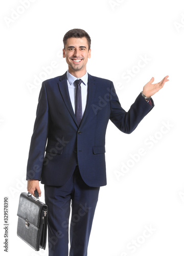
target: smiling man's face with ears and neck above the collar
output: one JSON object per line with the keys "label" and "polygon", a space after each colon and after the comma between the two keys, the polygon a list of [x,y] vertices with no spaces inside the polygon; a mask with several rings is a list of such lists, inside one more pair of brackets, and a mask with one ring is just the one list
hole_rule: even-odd
{"label": "smiling man's face with ears and neck above the collar", "polygon": [[85,37],[67,39],[65,49],[63,49],[63,58],[66,58],[68,70],[71,74],[77,71],[80,71],[80,74],[83,75],[86,73],[86,64],[88,58],[90,58],[90,52]]}

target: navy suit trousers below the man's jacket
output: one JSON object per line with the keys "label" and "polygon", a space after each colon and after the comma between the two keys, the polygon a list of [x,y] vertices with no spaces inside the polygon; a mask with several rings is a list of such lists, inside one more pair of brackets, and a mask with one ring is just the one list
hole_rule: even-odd
{"label": "navy suit trousers below the man's jacket", "polygon": [[99,189],[100,187],[86,185],[78,166],[64,185],[44,185],[45,203],[48,205],[49,256],[68,256],[69,226],[69,255],[87,256]]}

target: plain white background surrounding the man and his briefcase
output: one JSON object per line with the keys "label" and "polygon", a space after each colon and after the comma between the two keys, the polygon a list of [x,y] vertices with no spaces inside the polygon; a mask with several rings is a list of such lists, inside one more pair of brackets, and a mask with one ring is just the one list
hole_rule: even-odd
{"label": "plain white background surrounding the man and his briefcase", "polygon": [[[62,38],[73,28],[91,37],[88,73],[112,80],[125,110],[152,76],[155,82],[166,75],[170,79],[152,97],[154,109],[132,134],[109,122],[107,186],[100,189],[88,256],[183,256],[182,0],[1,1],[1,253],[8,196],[9,255],[48,255],[48,246],[35,252],[16,236],[16,214],[19,195],[27,191],[41,82],[67,70]],[[147,61],[140,61],[145,56]],[[55,67],[43,73],[53,61]],[[133,75],[127,82],[128,70]],[[140,148],[144,156],[137,155]],[[41,190],[44,201],[43,185]]]}

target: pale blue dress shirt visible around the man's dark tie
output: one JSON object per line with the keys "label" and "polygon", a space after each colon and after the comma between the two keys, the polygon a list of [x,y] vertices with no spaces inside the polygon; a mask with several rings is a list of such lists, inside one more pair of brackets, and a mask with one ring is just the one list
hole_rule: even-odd
{"label": "pale blue dress shirt visible around the man's dark tie", "polygon": [[81,95],[82,95],[82,115],[84,114],[85,111],[85,107],[86,107],[86,102],[87,102],[87,81],[88,81],[88,74],[87,72],[85,73],[84,76],[77,78],[73,75],[71,75],[71,73],[66,72],[66,77],[67,77],[67,85],[68,85],[68,91],[69,91],[69,95],[70,95],[70,99],[71,99],[71,103],[72,103],[72,107],[75,113],[75,100],[76,100],[76,86],[74,81],[77,79],[81,79],[82,83],[81,83]]}

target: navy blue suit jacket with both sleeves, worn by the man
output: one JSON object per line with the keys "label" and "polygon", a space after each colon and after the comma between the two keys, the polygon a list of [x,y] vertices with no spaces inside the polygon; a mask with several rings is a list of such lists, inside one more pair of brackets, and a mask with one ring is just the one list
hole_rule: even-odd
{"label": "navy blue suit jacket with both sleeves, worn by the man", "polygon": [[130,134],[153,108],[140,95],[128,112],[122,109],[110,80],[88,74],[88,96],[78,126],[66,73],[45,80],[39,94],[27,166],[27,180],[63,185],[76,164],[89,186],[106,185],[105,133],[109,119]]}

